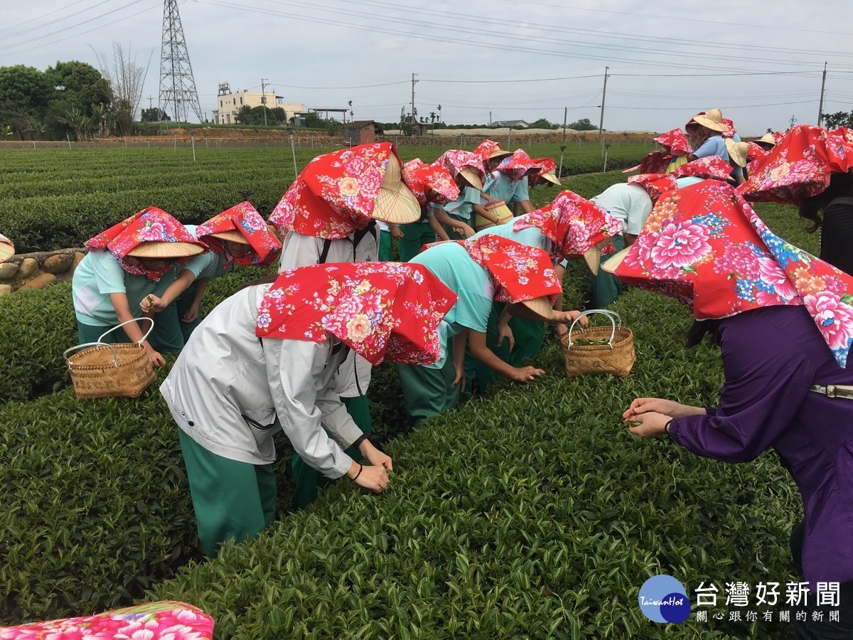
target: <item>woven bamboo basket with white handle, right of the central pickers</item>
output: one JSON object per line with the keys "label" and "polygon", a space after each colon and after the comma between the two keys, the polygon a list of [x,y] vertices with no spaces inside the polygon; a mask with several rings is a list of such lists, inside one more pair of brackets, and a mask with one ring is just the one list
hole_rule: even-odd
{"label": "woven bamboo basket with white handle, right of the central pickers", "polygon": [[[575,329],[577,320],[591,313],[602,313],[611,321],[611,326]],[[601,345],[578,345],[577,340],[606,340]],[[631,372],[636,361],[634,334],[613,311],[590,309],[575,318],[566,335],[560,338],[563,360],[567,375],[591,373],[618,375],[624,378]]]}

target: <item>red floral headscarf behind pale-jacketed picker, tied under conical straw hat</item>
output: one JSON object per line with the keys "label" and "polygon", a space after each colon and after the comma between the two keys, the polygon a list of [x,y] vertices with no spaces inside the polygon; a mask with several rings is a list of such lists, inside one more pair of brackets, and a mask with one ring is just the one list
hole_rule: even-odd
{"label": "red floral headscarf behind pale-jacketed picker, tied under conical straw hat", "polygon": [[[371,218],[391,158],[400,162],[392,143],[361,144],[311,160],[270,215],[282,233],[339,240],[363,229]],[[405,169],[400,162],[403,180]],[[408,191],[408,189],[406,189]],[[414,222],[421,215],[411,196]],[[414,214],[417,215],[414,215]]]}

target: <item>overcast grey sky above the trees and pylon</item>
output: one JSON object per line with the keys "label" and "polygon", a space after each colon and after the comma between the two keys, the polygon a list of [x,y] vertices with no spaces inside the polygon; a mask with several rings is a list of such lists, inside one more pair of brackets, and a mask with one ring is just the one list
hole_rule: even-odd
{"label": "overcast grey sky above the trees and pylon", "polygon": [[[157,105],[163,0],[2,0],[0,66],[98,67],[113,41],[149,64]],[[820,8],[820,9],[818,9]],[[419,115],[451,124],[581,118],[669,131],[722,108],[746,136],[853,109],[847,0],[181,0],[201,108],[217,88],[275,91],[356,119]],[[94,51],[93,51],[94,49]],[[150,96],[150,102],[149,102]],[[349,119],[349,117],[348,117]]]}

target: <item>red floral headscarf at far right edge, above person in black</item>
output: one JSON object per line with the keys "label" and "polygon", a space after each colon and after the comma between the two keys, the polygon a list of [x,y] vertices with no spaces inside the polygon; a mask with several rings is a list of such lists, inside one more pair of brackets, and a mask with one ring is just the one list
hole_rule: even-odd
{"label": "red floral headscarf at far right edge, above person in black", "polygon": [[836,131],[797,125],[750,170],[738,187],[749,201],[800,205],[827,189],[833,172],[853,167],[853,143]]}

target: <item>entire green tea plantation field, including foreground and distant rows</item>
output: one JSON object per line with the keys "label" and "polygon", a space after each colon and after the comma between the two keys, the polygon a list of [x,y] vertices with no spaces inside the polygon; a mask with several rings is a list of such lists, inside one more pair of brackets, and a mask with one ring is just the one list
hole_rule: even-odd
{"label": "entire green tea plantation field, including foreground and distant rows", "polygon": [[[180,151],[148,151],[0,152],[0,230],[32,232],[33,248],[46,248],[38,243],[54,230],[61,246],[79,244],[148,205],[195,221],[242,189],[266,213],[293,177],[281,149],[208,149],[195,166],[170,156]],[[624,166],[644,153],[635,151]],[[421,150],[403,153],[408,160]],[[432,160],[426,150],[421,157]],[[85,175],[81,166],[90,167]],[[564,187],[589,197],[624,179],[609,172]],[[531,195],[542,205],[557,192]],[[758,209],[780,235],[816,251],[792,208]],[[209,304],[254,276],[213,282]],[[572,265],[565,308],[582,308],[588,293]],[[628,378],[568,378],[559,343],[548,339],[533,360],[547,371],[542,379],[504,382],[416,433],[404,433],[397,380],[383,365],[370,397],[394,458],[388,490],[338,483],[309,509],[287,513],[282,440],[279,518],[205,561],[177,428],[156,385],[139,399],[76,401],[61,361],[76,337],[70,287],[3,296],[0,625],[169,598],[212,614],[218,637],[247,640],[792,637],[792,625],[760,614],[728,620],[724,585],[795,579],[787,535],[801,516],[796,487],[775,455],[723,465],[667,439],[632,436],[621,420],[631,399],[715,404],[722,368],[716,348],[683,348],[690,318],[674,301],[632,289],[613,308],[635,332]],[[637,596],[657,573],[691,595],[713,582],[717,608],[707,621],[647,620]]]}

